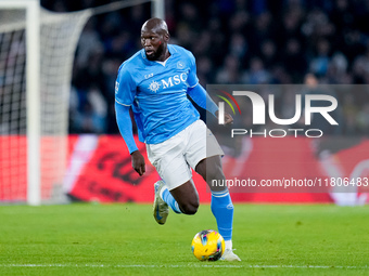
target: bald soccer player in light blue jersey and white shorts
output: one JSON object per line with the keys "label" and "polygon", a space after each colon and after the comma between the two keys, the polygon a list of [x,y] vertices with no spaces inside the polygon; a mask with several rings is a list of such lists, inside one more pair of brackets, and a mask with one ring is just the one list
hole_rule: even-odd
{"label": "bald soccer player in light blue jersey and white shorts", "polygon": [[[199,83],[192,53],[168,41],[169,32],[163,19],[151,18],[142,25],[143,49],[124,62],[118,70],[117,124],[133,169],[143,175],[144,158],[135,143],[129,116],[129,108],[132,108],[139,140],[145,143],[149,160],[162,179],[154,184],[156,222],[166,222],[168,207],[176,213],[198,211],[199,195],[192,181],[192,168],[212,192],[212,211],[226,241],[222,260],[241,261],[232,251],[233,205],[228,188],[212,186],[213,179],[225,180],[220,161],[224,153],[187,95],[214,116],[218,107]],[[226,114],[225,123],[232,121]]]}

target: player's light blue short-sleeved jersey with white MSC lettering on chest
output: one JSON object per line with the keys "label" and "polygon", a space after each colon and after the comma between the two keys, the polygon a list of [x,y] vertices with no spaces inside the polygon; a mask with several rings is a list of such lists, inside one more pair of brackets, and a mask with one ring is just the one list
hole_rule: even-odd
{"label": "player's light blue short-sleeved jersey with white MSC lettering on chest", "polygon": [[139,140],[158,144],[176,135],[200,115],[187,98],[188,88],[198,84],[195,60],[181,47],[168,44],[165,62],[147,58],[142,49],[118,70],[115,101],[131,106]]}

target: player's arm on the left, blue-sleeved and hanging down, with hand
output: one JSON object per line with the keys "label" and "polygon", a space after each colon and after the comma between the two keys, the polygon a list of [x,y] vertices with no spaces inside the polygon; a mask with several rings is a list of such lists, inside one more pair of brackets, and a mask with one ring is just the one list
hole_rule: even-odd
{"label": "player's arm on the left, blue-sleeved and hanging down, with hand", "polygon": [[135,101],[135,95],[136,84],[128,70],[126,70],[123,66],[123,68],[119,68],[118,77],[115,83],[116,122],[131,156],[133,169],[140,175],[143,175],[145,172],[144,158],[138,150],[138,147],[136,145],[133,139],[132,122],[129,116],[130,105]]}

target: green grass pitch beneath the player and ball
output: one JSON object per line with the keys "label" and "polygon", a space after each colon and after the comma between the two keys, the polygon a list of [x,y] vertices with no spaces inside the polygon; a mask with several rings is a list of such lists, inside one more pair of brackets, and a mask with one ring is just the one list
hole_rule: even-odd
{"label": "green grass pitch beneath the player and ball", "polygon": [[208,205],[0,206],[0,275],[369,275],[369,206],[236,205],[242,262],[200,262],[195,233],[215,228]]}

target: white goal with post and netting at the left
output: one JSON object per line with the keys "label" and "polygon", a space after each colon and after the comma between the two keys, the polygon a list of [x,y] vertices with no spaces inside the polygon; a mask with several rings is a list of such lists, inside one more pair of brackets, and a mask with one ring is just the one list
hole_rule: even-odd
{"label": "white goal with post and netting at the left", "polygon": [[97,12],[148,1],[72,13],[37,3],[34,14],[26,2],[0,1],[0,203],[65,202],[68,101],[80,32]]}

